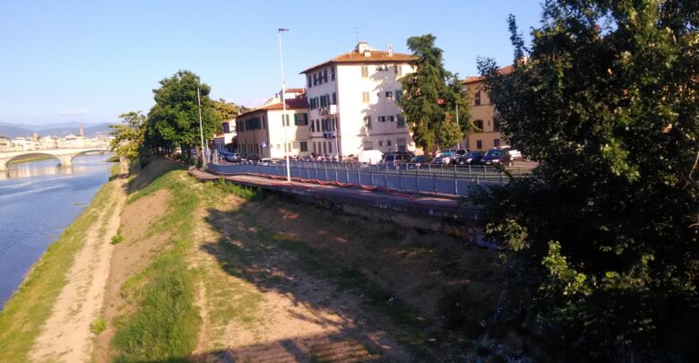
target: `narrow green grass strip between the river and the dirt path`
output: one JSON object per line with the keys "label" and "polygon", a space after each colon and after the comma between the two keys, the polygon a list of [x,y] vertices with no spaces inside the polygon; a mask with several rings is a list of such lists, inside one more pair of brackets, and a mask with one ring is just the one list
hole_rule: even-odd
{"label": "narrow green grass strip between the river and the dirt path", "polygon": [[0,313],[0,361],[29,359],[32,345],[67,283],[65,274],[73,265],[75,254],[82,248],[88,230],[98,222],[101,212],[107,215],[116,212],[115,203],[110,203],[115,188],[114,183],[108,183],[99,189],[90,205],[56,242],[48,246],[20,288],[5,303]]}

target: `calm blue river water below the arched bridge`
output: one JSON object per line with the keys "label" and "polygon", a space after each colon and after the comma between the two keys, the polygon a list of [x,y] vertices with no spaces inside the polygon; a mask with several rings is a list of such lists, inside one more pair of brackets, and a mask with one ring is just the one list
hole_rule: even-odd
{"label": "calm blue river water below the arched bridge", "polygon": [[0,309],[48,245],[90,204],[109,178],[111,155],[13,165],[0,171]]}

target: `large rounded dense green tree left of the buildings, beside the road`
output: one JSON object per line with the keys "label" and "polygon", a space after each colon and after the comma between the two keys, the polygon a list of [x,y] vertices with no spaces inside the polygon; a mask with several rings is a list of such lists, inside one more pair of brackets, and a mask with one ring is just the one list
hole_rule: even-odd
{"label": "large rounded dense green tree left of the buildings, beside the road", "polygon": [[194,146],[201,143],[197,88],[202,100],[204,141],[220,129],[220,114],[209,98],[211,87],[190,71],[179,71],[153,90],[155,105],[148,113],[147,140],[153,147]]}

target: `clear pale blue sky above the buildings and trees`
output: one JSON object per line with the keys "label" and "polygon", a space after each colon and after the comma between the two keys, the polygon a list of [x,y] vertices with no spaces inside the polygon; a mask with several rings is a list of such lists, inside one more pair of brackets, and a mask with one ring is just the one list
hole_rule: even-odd
{"label": "clear pale blue sky above the buildings and trees", "polygon": [[432,33],[444,67],[477,75],[477,57],[509,65],[512,13],[527,36],[540,2],[490,1],[0,1],[0,122],[116,122],[153,105],[152,90],[180,69],[212,99],[255,107],[281,89],[278,29],[288,87],[298,73],[357,40],[410,53]]}

